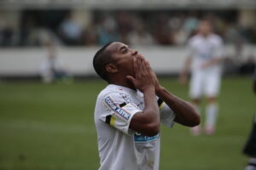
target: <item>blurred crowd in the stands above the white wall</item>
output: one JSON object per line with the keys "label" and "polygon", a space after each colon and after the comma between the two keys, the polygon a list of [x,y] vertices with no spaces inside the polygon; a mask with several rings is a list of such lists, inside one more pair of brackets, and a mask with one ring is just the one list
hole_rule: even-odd
{"label": "blurred crowd in the stands above the white wall", "polygon": [[0,46],[40,46],[38,34],[43,28],[54,32],[67,46],[102,45],[113,41],[184,45],[195,35],[198,21],[204,17],[211,21],[214,32],[224,37],[224,42],[235,44],[235,55],[239,55],[243,43],[256,43],[256,26],[240,26],[237,15],[228,20],[230,15],[234,16],[234,11],[94,11],[90,24],[80,26],[69,10],[26,11],[20,18],[18,31],[0,26]]}

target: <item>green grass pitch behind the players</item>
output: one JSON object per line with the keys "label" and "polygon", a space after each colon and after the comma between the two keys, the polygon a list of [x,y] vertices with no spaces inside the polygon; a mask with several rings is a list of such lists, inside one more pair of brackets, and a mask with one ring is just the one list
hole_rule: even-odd
{"label": "green grass pitch behind the players", "polygon": [[[177,79],[160,79],[188,99]],[[99,167],[93,112],[99,80],[72,85],[0,83],[1,170],[95,170]],[[193,137],[187,127],[161,127],[160,170],[241,170],[252,126],[255,96],[251,77],[224,78],[217,133]]]}

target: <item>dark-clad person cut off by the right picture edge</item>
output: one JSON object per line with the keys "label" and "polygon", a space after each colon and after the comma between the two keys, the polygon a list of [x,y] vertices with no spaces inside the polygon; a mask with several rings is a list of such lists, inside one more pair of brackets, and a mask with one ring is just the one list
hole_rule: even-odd
{"label": "dark-clad person cut off by the right picture edge", "polygon": [[[256,94],[256,69],[253,75],[253,91]],[[246,170],[256,170],[256,114],[254,114],[253,128],[243,152],[250,156]]]}

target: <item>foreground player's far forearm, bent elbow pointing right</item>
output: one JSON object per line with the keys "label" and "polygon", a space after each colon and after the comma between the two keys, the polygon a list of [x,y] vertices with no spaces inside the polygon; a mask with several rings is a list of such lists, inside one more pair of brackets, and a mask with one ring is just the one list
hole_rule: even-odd
{"label": "foreground player's far forearm, bent elbow pointing right", "polygon": [[160,87],[156,94],[162,99],[166,105],[175,112],[175,122],[185,126],[194,127],[200,123],[200,116],[195,108],[183,99],[171,94],[166,88]]}

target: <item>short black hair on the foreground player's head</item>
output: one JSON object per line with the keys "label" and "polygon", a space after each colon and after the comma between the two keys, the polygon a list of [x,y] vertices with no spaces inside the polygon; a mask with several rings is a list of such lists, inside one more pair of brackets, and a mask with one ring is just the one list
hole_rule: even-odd
{"label": "short black hair on the foreground player's head", "polygon": [[102,77],[103,80],[108,82],[108,72],[105,69],[105,66],[108,65],[112,59],[111,54],[106,48],[113,43],[109,42],[106,45],[104,45],[102,48],[100,48],[93,58],[93,67],[96,73]]}

